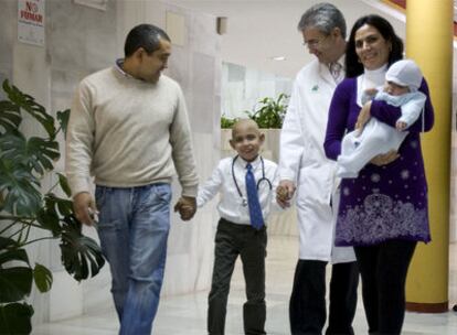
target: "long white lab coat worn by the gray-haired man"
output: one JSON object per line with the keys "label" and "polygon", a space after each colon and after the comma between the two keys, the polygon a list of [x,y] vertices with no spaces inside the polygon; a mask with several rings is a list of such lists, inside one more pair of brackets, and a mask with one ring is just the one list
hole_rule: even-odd
{"label": "long white lab coat worn by the gray-haired man", "polygon": [[317,60],[298,73],[280,133],[279,159],[279,180],[297,185],[299,258],[332,263],[355,260],[352,247],[333,244],[337,164],[326,158],[323,140],[336,86],[328,67]]}

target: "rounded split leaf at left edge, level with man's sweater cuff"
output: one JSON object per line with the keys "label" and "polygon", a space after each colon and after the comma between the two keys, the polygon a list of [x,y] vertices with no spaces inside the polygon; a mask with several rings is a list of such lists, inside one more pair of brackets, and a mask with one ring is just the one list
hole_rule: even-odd
{"label": "rounded split leaf at left edge, level with man's sweater cuff", "polygon": [[4,212],[19,216],[34,215],[42,206],[38,186],[38,179],[23,165],[0,159],[0,193],[4,196]]}

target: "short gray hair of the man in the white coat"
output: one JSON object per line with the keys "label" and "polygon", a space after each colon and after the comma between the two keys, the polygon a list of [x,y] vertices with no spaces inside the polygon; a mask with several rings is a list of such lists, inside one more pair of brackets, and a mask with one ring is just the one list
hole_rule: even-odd
{"label": "short gray hair of the man in the white coat", "polygon": [[333,4],[322,2],[309,8],[298,22],[298,30],[316,28],[329,35],[334,28],[339,28],[341,36],[346,39],[346,20],[341,11]]}

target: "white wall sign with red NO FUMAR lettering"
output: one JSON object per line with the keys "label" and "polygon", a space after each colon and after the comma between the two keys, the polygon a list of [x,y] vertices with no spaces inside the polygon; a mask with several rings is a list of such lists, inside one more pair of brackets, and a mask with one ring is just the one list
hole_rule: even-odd
{"label": "white wall sign with red NO FUMAR lettering", "polygon": [[18,0],[18,40],[44,46],[44,0]]}

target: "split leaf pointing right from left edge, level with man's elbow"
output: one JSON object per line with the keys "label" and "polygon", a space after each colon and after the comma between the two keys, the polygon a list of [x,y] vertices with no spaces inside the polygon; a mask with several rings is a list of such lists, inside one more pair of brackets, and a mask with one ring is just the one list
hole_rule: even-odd
{"label": "split leaf pointing right from left edge, level with man's elbow", "polygon": [[36,137],[26,140],[19,131],[2,136],[0,149],[2,159],[30,166],[41,175],[53,170],[53,162],[61,156],[59,142]]}

